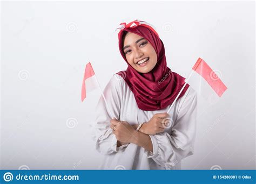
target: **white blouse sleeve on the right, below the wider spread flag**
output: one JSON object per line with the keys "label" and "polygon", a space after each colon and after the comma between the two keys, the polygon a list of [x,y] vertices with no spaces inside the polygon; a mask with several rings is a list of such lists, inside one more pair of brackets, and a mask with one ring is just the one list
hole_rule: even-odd
{"label": "white blouse sleeve on the right, below the wider spread flag", "polygon": [[153,152],[145,150],[147,158],[152,158],[157,164],[171,169],[182,159],[192,155],[196,137],[196,118],[197,94],[190,88],[178,111],[177,121],[171,133],[150,135]]}

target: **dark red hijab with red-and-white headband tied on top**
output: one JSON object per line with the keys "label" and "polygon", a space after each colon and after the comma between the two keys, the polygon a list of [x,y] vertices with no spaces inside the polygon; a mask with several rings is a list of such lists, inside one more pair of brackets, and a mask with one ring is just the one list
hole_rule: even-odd
{"label": "dark red hijab with red-and-white headband tied on top", "polygon": [[[151,25],[139,20],[134,20],[129,24],[121,23],[120,25],[121,27],[118,28],[120,29],[118,33],[119,51],[128,67],[125,71],[117,74],[124,78],[134,94],[139,109],[153,111],[168,107],[173,103],[185,84],[185,78],[172,72],[167,67],[164,44]],[[122,43],[124,31],[138,34],[140,37],[145,38],[155,49],[157,64],[149,73],[139,73],[127,62]],[[188,87],[189,85],[186,84],[179,98],[185,94]]]}

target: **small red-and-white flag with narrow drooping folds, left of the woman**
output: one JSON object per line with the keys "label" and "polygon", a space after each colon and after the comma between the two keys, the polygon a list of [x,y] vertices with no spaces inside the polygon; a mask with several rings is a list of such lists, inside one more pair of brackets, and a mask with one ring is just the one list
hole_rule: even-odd
{"label": "small red-and-white flag with narrow drooping folds, left of the woman", "polygon": [[83,79],[83,83],[82,83],[82,95],[81,95],[82,102],[86,98],[86,93],[88,93],[89,91],[92,91],[98,87],[99,87],[98,81],[96,79],[96,75],[91,66],[91,62],[88,62],[85,67],[84,79]]}

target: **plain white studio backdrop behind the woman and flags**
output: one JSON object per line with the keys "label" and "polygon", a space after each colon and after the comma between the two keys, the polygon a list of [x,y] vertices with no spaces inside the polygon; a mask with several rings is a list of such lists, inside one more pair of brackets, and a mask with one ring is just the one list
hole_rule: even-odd
{"label": "plain white studio backdrop behind the woman and flags", "polygon": [[84,67],[89,58],[102,88],[125,70],[114,30],[134,19],[157,28],[174,72],[186,77],[200,56],[228,87],[199,103],[182,169],[254,169],[254,12],[254,2],[2,2],[1,169],[97,169],[100,93],[81,103]]}

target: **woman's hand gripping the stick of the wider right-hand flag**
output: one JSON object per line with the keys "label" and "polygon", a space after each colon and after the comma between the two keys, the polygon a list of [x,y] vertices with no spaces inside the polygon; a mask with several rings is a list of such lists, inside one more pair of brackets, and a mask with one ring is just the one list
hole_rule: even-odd
{"label": "woman's hand gripping the stick of the wider right-hand flag", "polygon": [[165,128],[170,127],[170,117],[166,112],[154,114],[149,122],[146,122],[139,129],[139,132],[145,133],[147,135],[155,135],[156,133],[163,132]]}

